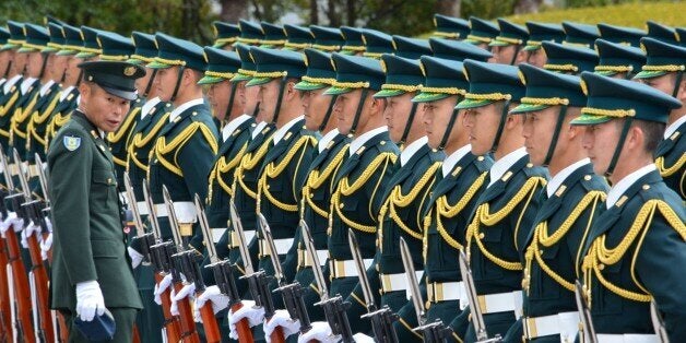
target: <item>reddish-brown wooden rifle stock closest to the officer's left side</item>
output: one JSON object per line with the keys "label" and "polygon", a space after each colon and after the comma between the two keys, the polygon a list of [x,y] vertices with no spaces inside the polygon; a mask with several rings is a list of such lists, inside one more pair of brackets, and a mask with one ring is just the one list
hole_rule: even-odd
{"label": "reddish-brown wooden rifle stock closest to the officer's left side", "polygon": [[50,315],[50,304],[48,303],[48,273],[43,264],[40,246],[36,235],[26,237],[28,252],[31,255],[32,271],[36,285],[36,301],[38,308],[38,324],[43,331],[43,339],[46,342],[55,342],[55,331],[52,331],[52,316]]}

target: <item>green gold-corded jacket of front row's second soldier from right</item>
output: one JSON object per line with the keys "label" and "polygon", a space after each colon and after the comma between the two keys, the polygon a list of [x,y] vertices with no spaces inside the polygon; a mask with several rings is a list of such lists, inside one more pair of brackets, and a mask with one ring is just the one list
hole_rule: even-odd
{"label": "green gold-corded jacket of front row's second soldier from right", "polygon": [[577,310],[573,293],[588,230],[604,210],[607,184],[589,163],[570,174],[541,208],[527,239],[524,315],[543,317]]}

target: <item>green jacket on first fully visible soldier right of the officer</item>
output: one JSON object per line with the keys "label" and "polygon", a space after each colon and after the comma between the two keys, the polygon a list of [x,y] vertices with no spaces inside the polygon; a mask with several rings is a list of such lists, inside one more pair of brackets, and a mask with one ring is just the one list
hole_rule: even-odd
{"label": "green jacket on first fully visible soldier right of the officer", "polygon": [[[147,169],[151,196],[155,204],[164,204],[162,186],[166,186],[174,202],[193,202],[208,197],[208,174],[217,151],[218,133],[212,122],[210,109],[205,104],[190,106],[173,121],[165,123],[157,134],[151,152]],[[184,223],[180,230],[185,237],[193,237],[198,228],[197,221]],[[172,227],[167,216],[158,217],[163,240],[172,239]],[[190,241],[198,251],[202,251],[201,241]]]}

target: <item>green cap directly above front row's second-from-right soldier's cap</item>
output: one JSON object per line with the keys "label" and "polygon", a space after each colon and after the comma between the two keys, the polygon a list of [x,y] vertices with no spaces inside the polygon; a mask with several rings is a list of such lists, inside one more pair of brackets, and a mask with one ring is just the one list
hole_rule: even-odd
{"label": "green cap directly above front row's second-from-right soldier's cap", "polygon": [[598,66],[598,52],[593,49],[554,42],[543,42],[541,46],[547,56],[543,69],[578,75],[582,71],[593,71]]}

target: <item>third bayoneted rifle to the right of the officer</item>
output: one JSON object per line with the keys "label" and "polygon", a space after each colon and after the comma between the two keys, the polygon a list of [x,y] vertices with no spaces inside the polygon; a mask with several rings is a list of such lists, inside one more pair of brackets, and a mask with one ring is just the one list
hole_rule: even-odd
{"label": "third bayoneted rifle to the right of the officer", "polygon": [[[174,291],[178,293],[185,286],[184,279],[181,277],[181,270],[184,268],[184,255],[189,253],[190,251],[187,251],[184,247],[184,241],[181,240],[181,232],[179,229],[179,223],[176,216],[176,210],[174,209],[174,202],[172,201],[172,197],[169,196],[169,190],[167,190],[167,187],[164,185],[162,186],[162,196],[164,198],[164,203],[167,208],[169,226],[172,227],[172,236],[174,238],[174,244],[176,245],[172,246],[173,250],[167,249],[167,251],[168,253],[170,253],[172,282],[174,284]],[[190,301],[188,297],[177,301],[176,305],[178,307],[181,321],[181,340],[184,340],[184,342],[187,342],[188,340],[188,342],[191,343],[200,343],[200,336],[196,331],[193,311],[190,307]]]}

